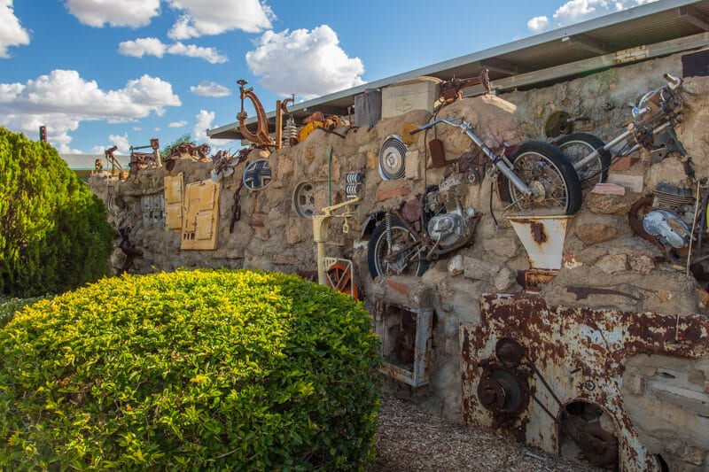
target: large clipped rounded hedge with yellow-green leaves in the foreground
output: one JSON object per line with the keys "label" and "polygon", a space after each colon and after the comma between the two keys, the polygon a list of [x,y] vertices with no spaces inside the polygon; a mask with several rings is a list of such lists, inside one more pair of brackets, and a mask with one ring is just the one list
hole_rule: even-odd
{"label": "large clipped rounded hedge with yellow-green leaves in the foreground", "polygon": [[378,339],[296,275],[123,275],[0,329],[0,469],[362,470]]}

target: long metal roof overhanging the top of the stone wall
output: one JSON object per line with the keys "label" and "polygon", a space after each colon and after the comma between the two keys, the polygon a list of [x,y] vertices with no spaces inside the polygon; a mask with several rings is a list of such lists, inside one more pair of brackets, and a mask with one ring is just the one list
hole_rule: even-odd
{"label": "long metal roof overhanging the top of the stone wall", "polygon": [[[660,0],[369,82],[353,89],[341,90],[294,104],[288,109],[297,119],[315,111],[347,115],[347,107],[354,105],[354,96],[365,90],[381,89],[422,75],[442,80],[474,77],[484,68],[490,70],[490,79],[498,89],[568,80],[574,74],[613,66],[614,59],[609,55],[619,51],[663,43],[663,47],[655,48],[653,52],[659,56],[705,47],[709,45],[707,31],[709,0]],[[593,60],[595,58],[603,60]],[[640,59],[642,55],[637,60]],[[570,64],[577,66],[565,69],[559,67]],[[535,75],[537,71],[548,73]],[[275,112],[269,112],[268,116],[273,128]],[[255,122],[255,118],[247,121],[252,122]],[[222,139],[242,137],[238,132],[238,122],[209,129],[207,135]]]}

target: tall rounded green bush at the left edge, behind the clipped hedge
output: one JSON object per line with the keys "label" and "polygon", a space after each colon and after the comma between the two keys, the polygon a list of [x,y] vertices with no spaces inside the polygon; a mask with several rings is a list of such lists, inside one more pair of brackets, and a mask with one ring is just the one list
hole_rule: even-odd
{"label": "tall rounded green bush at the left edge, behind the clipped hedge", "polygon": [[0,128],[0,294],[35,297],[108,274],[105,207],[47,143]]}

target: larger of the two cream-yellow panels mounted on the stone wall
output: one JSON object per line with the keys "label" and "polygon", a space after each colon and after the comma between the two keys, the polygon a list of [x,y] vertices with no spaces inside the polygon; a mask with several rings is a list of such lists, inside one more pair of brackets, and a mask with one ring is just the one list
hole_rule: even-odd
{"label": "larger of the two cream-yellow panels mounted on the stone wall", "polygon": [[219,182],[211,179],[184,187],[181,249],[214,250],[219,228]]}

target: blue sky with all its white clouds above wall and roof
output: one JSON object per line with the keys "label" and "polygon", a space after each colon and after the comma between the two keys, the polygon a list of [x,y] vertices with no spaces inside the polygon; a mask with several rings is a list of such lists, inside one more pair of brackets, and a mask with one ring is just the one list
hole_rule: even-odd
{"label": "blue sky with all its white clouds above wall and roof", "polygon": [[65,153],[209,143],[238,79],[270,111],[650,1],[0,0],[0,126]]}

